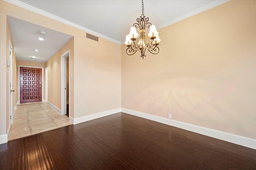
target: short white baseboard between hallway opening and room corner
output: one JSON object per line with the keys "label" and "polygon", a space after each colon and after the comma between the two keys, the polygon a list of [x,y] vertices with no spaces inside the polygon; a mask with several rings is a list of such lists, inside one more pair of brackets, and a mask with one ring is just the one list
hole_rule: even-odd
{"label": "short white baseboard between hallway opening and room corner", "polygon": [[95,113],[95,114],[92,114],[92,115],[87,115],[87,116],[83,116],[83,117],[74,118],[74,123],[73,124],[75,125],[75,124],[82,123],[82,122],[85,122],[85,121],[89,121],[89,120],[92,120],[92,119],[97,119],[97,118],[104,117],[104,116],[107,116],[107,115],[112,115],[112,114],[118,113],[118,112],[121,112],[121,108],[112,109],[112,110],[103,111],[103,112],[100,112],[100,113]]}

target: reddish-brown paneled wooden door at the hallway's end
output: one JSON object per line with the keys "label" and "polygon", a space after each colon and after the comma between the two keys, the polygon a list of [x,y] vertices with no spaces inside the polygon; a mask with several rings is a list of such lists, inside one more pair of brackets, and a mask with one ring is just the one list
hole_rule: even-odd
{"label": "reddish-brown paneled wooden door at the hallway's end", "polygon": [[20,103],[42,102],[42,68],[20,67]]}

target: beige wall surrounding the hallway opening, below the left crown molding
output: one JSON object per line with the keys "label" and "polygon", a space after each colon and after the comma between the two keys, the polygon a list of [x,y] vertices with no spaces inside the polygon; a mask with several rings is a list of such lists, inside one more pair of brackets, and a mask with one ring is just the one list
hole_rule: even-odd
{"label": "beige wall surrounding the hallway opening, below the left crown molding", "polygon": [[[74,36],[74,57],[70,58],[70,106],[73,106],[74,118],[108,111],[121,107],[121,48],[120,45],[99,37],[93,41],[85,37],[86,32],[45,16],[25,10],[0,0],[0,89],[6,95],[6,16],[48,27]],[[4,49],[4,52],[2,51]],[[65,51],[66,52],[66,51]],[[3,63],[4,62],[4,63]],[[4,66],[4,68],[2,68]],[[73,81],[73,82],[72,82]],[[73,93],[72,93],[73,91]],[[1,127],[6,127],[6,96],[0,97]],[[4,102],[2,102],[4,101]],[[4,106],[4,108],[2,108]],[[58,106],[59,107],[59,106]],[[72,108],[71,108],[72,109]],[[6,128],[0,130],[0,135]]]}

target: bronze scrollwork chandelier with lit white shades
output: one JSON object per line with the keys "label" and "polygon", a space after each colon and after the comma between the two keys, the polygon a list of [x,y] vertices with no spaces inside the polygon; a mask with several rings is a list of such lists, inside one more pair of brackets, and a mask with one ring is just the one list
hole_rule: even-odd
{"label": "bronze scrollwork chandelier with lit white shades", "polygon": [[[133,24],[133,27],[130,29],[129,35],[126,35],[125,44],[126,47],[126,54],[134,55],[137,51],[140,51],[140,57],[144,59],[146,57],[145,53],[148,50],[152,54],[159,53],[159,42],[161,39],[158,37],[158,31],[156,31],[156,26],[152,25],[149,21],[149,18],[144,16],[144,6],[142,0],[142,15],[140,18],[137,18],[137,23]],[[138,37],[138,33],[136,28],[140,29],[140,38],[137,42],[136,38]],[[146,39],[145,33],[146,28],[150,28],[148,33],[148,37],[150,37],[151,42],[148,42]]]}

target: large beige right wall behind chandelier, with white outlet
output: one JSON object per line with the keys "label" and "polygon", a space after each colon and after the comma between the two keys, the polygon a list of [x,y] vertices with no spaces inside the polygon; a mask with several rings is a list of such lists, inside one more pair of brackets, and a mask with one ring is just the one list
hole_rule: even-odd
{"label": "large beige right wall behind chandelier, with white outlet", "polygon": [[160,53],[122,45],[122,107],[256,139],[256,1],[230,1],[159,30]]}

